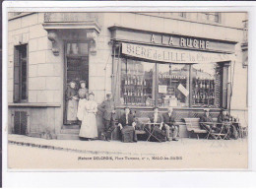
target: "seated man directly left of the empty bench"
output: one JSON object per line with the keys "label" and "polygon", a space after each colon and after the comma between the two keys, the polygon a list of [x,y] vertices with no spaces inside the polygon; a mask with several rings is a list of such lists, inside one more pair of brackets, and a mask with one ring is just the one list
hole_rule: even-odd
{"label": "seated man directly left of the empty bench", "polygon": [[173,109],[172,107],[168,107],[168,111],[162,114],[164,129],[166,131],[166,138],[170,141],[169,132],[172,131],[172,141],[178,141],[178,126],[174,125],[175,119],[173,116]]}

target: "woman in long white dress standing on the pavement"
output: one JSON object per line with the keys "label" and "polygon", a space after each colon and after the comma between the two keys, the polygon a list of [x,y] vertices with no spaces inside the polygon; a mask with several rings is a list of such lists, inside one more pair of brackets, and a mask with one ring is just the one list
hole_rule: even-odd
{"label": "woman in long white dress standing on the pavement", "polygon": [[97,104],[94,93],[89,94],[88,101],[85,103],[84,117],[79,133],[79,137],[87,138],[89,141],[97,138],[96,128]]}

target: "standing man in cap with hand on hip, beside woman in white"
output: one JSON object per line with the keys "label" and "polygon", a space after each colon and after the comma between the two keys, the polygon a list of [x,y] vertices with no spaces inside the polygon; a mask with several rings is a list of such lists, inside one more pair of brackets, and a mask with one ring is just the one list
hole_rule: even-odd
{"label": "standing man in cap with hand on hip, beside woman in white", "polygon": [[104,100],[99,106],[98,110],[100,110],[103,113],[103,125],[104,129],[101,134],[102,139],[108,140],[108,134],[109,129],[113,129],[114,123],[111,123],[111,119],[113,120],[113,117],[115,115],[115,108],[114,108],[114,101],[112,100],[112,95],[107,94],[106,100]]}

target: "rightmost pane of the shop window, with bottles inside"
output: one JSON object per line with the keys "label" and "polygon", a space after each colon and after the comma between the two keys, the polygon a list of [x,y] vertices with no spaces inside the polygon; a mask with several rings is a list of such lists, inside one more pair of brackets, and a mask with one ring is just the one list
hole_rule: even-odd
{"label": "rightmost pane of the shop window, with bottles inside", "polygon": [[228,67],[224,63],[192,65],[192,106],[227,107]]}

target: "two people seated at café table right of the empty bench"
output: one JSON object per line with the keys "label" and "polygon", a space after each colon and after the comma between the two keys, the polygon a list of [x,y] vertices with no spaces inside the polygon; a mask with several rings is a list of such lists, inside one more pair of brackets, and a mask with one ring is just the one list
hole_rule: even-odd
{"label": "two people seated at caf\u00e9 table right of the empty bench", "polygon": [[213,118],[210,116],[209,109],[204,110],[204,115],[200,117],[199,120],[200,127],[207,130],[210,133],[210,136],[213,139],[218,139],[218,136],[214,133],[224,133],[225,139],[237,139],[238,138],[238,129],[232,121],[232,116],[227,113],[227,110],[222,109],[217,122],[213,121]]}

